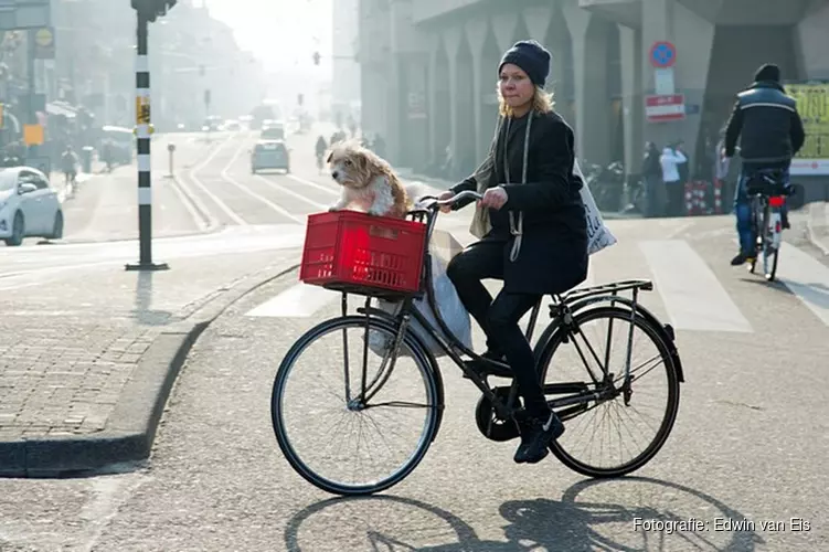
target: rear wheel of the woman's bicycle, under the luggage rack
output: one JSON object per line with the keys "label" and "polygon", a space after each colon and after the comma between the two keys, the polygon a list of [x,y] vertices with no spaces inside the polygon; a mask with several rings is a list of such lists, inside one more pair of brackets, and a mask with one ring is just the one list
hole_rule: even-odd
{"label": "rear wheel of the woman's bicycle, under the luggage rack", "polygon": [[[630,310],[620,307],[597,307],[576,314],[574,322],[573,331],[556,332],[540,355],[539,369],[548,401],[588,393],[604,397],[554,407],[566,432],[550,449],[578,474],[620,477],[645,466],[668,439],[679,411],[677,368],[660,329],[641,315],[631,317]],[[626,392],[625,365],[631,325],[631,381]],[[614,347],[614,342],[621,348]],[[608,372],[613,374],[612,388],[602,382]],[[656,393],[661,393],[661,399],[651,400]],[[627,422],[645,414],[652,414],[653,423],[646,423],[646,435],[637,438],[635,427]],[[619,422],[617,427],[607,431],[599,427],[615,421]],[[623,423],[625,427],[620,427]],[[580,449],[580,437],[597,439],[598,453],[617,446],[617,459],[595,458],[591,445]],[[623,455],[626,457],[621,458]]]}

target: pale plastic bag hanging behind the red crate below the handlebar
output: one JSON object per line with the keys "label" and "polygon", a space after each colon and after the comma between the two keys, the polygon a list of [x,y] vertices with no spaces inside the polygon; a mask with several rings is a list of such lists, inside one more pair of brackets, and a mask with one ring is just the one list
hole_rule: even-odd
{"label": "pale plastic bag hanging behind the red crate below the handlebar", "polygon": [[[451,330],[455,337],[469,349],[472,348],[472,326],[469,312],[460,302],[460,297],[455,289],[455,285],[446,274],[446,267],[451,261],[451,257],[457,255],[463,247],[458,244],[451,234],[435,230],[429,242],[429,253],[432,254],[432,283],[433,288],[429,293],[434,294],[435,302],[440,310],[440,317],[446,322],[446,326]],[[438,331],[438,335],[447,342],[449,338],[443,332],[437,323],[435,314],[429,307],[428,299],[423,297],[415,299],[415,308],[423,314],[428,322]],[[397,301],[389,301],[384,299],[378,299],[378,308],[385,310],[390,315],[397,315],[401,309],[401,304]],[[446,351],[438,344],[438,342],[432,338],[423,326],[412,318],[408,325],[410,329],[414,331],[428,348],[435,357],[445,357]],[[369,332],[369,348],[378,355],[385,354],[386,350],[393,344],[393,337],[378,331]],[[406,357],[408,351],[405,348],[401,348],[398,355]]]}

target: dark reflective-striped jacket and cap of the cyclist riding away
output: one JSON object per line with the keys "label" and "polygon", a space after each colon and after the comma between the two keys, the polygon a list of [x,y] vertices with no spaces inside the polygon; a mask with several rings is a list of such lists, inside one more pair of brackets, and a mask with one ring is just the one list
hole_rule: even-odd
{"label": "dark reflective-striped jacket and cap of the cyclist riding away", "polygon": [[780,85],[775,65],[763,65],[751,87],[737,94],[725,129],[725,156],[740,139],[743,167],[788,168],[806,136],[797,104]]}

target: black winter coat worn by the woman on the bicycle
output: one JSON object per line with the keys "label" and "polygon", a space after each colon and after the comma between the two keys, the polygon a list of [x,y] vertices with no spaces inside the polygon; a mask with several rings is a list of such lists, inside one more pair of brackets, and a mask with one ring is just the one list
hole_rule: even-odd
{"label": "black winter coat worn by the woman on the bicycle", "polygon": [[[532,114],[532,112],[531,112]],[[489,210],[492,230],[482,241],[503,243],[504,290],[519,294],[562,294],[587,277],[587,219],[573,174],[573,130],[556,113],[534,113],[530,129],[527,183],[521,183],[528,116],[502,121],[490,156],[495,170],[486,188],[501,185],[508,201]],[[506,156],[504,156],[506,140]],[[504,162],[506,157],[506,162]],[[504,168],[509,164],[510,183]],[[454,193],[477,190],[475,176],[451,188]],[[463,205],[457,205],[460,209]],[[523,213],[523,237],[516,261],[509,212]]]}

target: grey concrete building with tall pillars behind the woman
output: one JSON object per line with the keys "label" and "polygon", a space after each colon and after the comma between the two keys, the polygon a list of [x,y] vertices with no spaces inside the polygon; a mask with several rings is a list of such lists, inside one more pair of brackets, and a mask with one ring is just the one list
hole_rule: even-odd
{"label": "grey concrete building with tall pillars behind the woman", "polygon": [[[495,129],[498,61],[531,38],[553,55],[548,88],[580,159],[638,172],[646,140],[682,140],[694,167],[761,64],[829,78],[827,29],[829,0],[361,0],[362,125],[396,166],[448,148],[468,173]],[[660,42],[676,52],[669,71],[653,63]],[[683,95],[684,116],[649,117],[657,93]]]}

